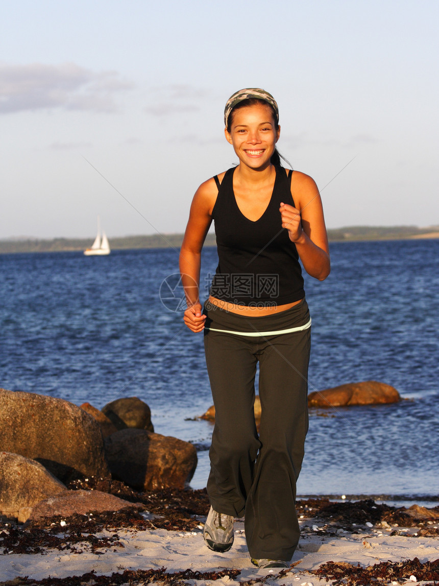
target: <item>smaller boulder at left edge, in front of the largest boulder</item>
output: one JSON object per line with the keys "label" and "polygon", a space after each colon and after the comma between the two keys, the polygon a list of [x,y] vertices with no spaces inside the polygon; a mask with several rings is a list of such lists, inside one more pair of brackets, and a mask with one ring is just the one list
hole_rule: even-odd
{"label": "smaller boulder at left edge, in front of the largest boulder", "polygon": [[19,517],[20,509],[32,507],[66,490],[44,466],[18,454],[0,452],[0,513]]}

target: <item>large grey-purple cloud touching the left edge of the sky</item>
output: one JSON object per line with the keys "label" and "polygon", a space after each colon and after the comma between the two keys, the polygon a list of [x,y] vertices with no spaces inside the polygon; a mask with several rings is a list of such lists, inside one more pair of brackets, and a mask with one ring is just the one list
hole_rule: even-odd
{"label": "large grey-purple cloud touching the left edge of the sky", "polygon": [[0,114],[43,108],[115,112],[114,94],[132,87],[116,71],[95,73],[75,63],[0,63]]}

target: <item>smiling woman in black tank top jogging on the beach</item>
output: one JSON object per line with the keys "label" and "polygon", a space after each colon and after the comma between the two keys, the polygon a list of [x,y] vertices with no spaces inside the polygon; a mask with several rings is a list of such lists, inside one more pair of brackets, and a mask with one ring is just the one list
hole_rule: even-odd
{"label": "smiling woman in black tank top jogging on the beach", "polygon": [[[299,258],[308,274],[324,280],[328,240],[313,179],[280,166],[273,96],[259,88],[236,92],[224,121],[239,164],[197,189],[180,252],[184,322],[204,331],[215,404],[204,539],[212,550],[227,551],[234,517],[245,513],[252,563],[288,567],[299,541],[296,481],[308,429],[311,320]],[[212,219],[219,264],[203,312],[200,258]]]}

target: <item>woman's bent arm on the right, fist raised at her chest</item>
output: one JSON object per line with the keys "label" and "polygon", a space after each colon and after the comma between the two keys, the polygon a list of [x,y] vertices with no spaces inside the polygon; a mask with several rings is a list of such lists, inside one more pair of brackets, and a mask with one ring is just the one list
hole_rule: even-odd
{"label": "woman's bent arm on the right, fist raised at her chest", "polygon": [[291,195],[295,207],[281,203],[279,208],[282,227],[296,244],[308,275],[323,281],[330,274],[331,262],[320,193],[310,176],[294,171]]}

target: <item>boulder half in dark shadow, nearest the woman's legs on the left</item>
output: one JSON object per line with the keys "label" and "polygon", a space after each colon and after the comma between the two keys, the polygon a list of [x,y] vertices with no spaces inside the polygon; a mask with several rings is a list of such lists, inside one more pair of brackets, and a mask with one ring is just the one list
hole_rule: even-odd
{"label": "boulder half in dark shadow, nearest the woman's legs on the left", "polygon": [[114,478],[138,490],[184,488],[197,467],[196,448],[146,430],[120,430],[105,440]]}

